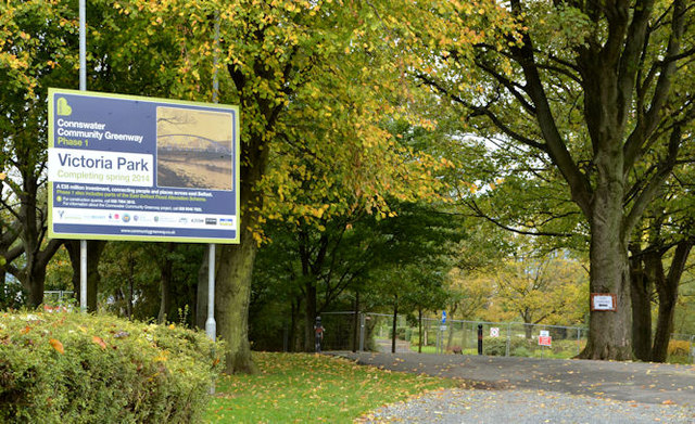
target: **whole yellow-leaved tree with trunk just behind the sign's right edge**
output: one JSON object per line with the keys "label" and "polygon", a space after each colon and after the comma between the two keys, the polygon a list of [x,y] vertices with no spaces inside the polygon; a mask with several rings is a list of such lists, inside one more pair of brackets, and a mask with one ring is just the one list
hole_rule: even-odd
{"label": "whole yellow-leaved tree with trunk just behind the sign's right edge", "polygon": [[[287,144],[294,154],[342,164],[337,169],[350,172],[331,172],[327,182],[350,183],[362,200],[358,205],[384,215],[388,209],[381,193],[389,185],[397,187],[400,177],[412,178],[407,170],[425,168],[427,159],[416,166],[404,164],[400,149],[378,126],[391,108],[384,99],[401,73],[386,60],[388,52],[379,51],[374,42],[379,28],[368,4],[211,1],[204,5],[174,14],[185,21],[179,40],[186,47],[181,65],[190,70],[181,74],[187,87],[181,92],[195,97],[198,92],[189,87],[205,83],[201,73],[212,69],[210,36],[214,16],[219,16],[220,70],[227,72],[220,74],[220,100],[239,104],[242,111],[243,224],[240,244],[224,246],[219,254],[215,313],[218,333],[227,341],[227,372],[244,372],[253,369],[248,310],[253,262],[263,240],[263,221],[268,218],[263,210],[268,210],[270,194],[280,200],[271,205],[292,200],[282,192],[263,190],[268,177],[285,178],[281,172],[268,174],[277,149]],[[136,13],[136,8],[129,10]],[[172,16],[166,7],[156,13],[163,20]],[[319,131],[315,131],[316,124]],[[281,187],[265,187],[274,185]],[[341,203],[340,207],[350,206]],[[313,205],[309,214],[317,209]]]}

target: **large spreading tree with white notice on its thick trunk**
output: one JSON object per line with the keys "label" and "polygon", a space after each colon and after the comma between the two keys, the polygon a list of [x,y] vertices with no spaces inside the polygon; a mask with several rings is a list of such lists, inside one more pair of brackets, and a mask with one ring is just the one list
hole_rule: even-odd
{"label": "large spreading tree with white notice on its thick trunk", "polygon": [[581,357],[631,359],[628,241],[694,117],[692,86],[673,89],[692,80],[682,65],[695,54],[693,9],[683,0],[511,0],[507,11],[517,29],[481,37],[472,53],[454,42],[460,27],[428,39],[437,66],[417,78],[481,134],[552,164],[589,229],[590,291],[618,299],[616,312],[591,313]]}

